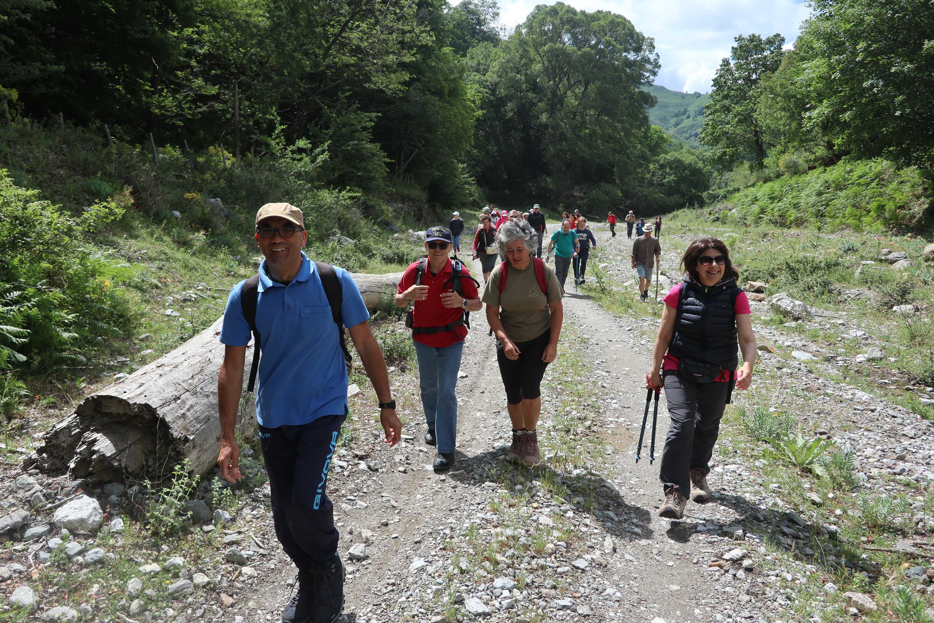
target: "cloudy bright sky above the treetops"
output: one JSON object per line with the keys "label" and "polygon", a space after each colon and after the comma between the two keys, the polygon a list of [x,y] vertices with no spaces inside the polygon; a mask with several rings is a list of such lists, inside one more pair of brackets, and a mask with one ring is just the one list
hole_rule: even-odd
{"label": "cloudy bright sky above the treetops", "polygon": [[[564,0],[586,11],[626,16],[643,35],[655,38],[661,60],[656,84],[672,91],[709,92],[720,60],[736,35],[798,37],[809,9],[803,0]],[[500,19],[512,30],[525,21],[535,0],[500,0]],[[547,4],[547,3],[545,3]]]}

